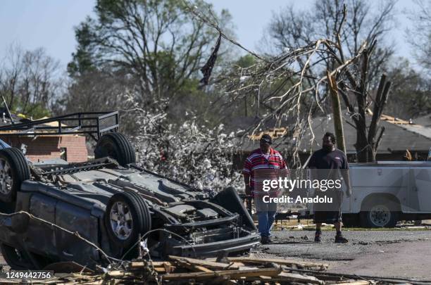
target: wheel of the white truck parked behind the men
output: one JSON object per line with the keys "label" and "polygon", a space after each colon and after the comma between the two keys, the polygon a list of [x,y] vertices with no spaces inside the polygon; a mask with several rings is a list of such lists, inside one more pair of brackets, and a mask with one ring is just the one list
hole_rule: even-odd
{"label": "wheel of the white truck parked behind the men", "polygon": [[399,218],[399,205],[386,199],[377,199],[361,211],[362,227],[395,227]]}

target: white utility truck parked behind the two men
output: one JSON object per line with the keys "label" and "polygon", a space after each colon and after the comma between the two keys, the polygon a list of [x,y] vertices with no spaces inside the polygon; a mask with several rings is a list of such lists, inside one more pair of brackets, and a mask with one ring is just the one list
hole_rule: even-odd
{"label": "white utility truck parked behind the two men", "polygon": [[[431,161],[349,166],[353,194],[344,195],[344,225],[394,227],[400,220],[431,219]],[[313,214],[313,204],[307,208]]]}

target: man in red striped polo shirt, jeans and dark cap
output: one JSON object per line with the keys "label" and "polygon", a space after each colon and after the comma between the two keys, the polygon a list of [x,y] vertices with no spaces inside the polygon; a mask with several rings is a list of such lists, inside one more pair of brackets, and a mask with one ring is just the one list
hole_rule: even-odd
{"label": "man in red striped polo shirt, jeans and dark cap", "polygon": [[[263,180],[278,180],[279,177],[286,177],[289,173],[285,160],[278,151],[271,148],[273,139],[269,134],[263,134],[260,141],[260,148],[252,151],[244,163],[245,192],[254,198],[254,205],[258,214],[258,229],[261,234],[261,242],[270,243],[270,229],[277,212],[277,203],[266,203],[268,197],[276,197],[280,194],[280,189],[270,189],[263,191]],[[265,202],[266,201],[266,202]]]}

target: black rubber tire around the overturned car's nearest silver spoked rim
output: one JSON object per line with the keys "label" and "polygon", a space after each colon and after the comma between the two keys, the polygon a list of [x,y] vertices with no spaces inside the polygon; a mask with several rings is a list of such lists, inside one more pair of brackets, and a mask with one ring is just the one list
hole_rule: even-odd
{"label": "black rubber tire around the overturned car's nearest silver spoked rim", "polygon": [[[115,203],[127,205],[127,213],[130,213],[130,217],[132,219],[129,222],[124,222],[124,227],[131,229],[131,231],[129,234],[123,231],[123,238],[120,238],[121,233],[115,233],[115,222],[112,220],[111,223],[111,213],[115,214],[115,210],[118,209],[115,208]],[[117,211],[116,213],[119,212]],[[123,211],[123,213],[125,213],[125,211]],[[151,230],[151,213],[146,202],[141,196],[139,196],[139,194],[132,191],[121,192],[113,195],[109,199],[108,205],[106,205],[104,222],[109,240],[115,246],[122,248],[122,254],[125,254],[135,246],[139,239],[139,235],[143,236],[146,232]]]}

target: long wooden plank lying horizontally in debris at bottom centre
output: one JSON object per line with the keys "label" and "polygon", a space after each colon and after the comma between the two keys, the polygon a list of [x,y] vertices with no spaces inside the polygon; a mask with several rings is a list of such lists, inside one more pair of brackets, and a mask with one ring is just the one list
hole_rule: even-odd
{"label": "long wooden plank lying horizontally in debris at bottom centre", "polygon": [[209,279],[213,277],[229,276],[230,279],[239,279],[241,277],[259,277],[259,276],[277,276],[282,272],[281,268],[262,268],[258,270],[223,270],[214,272],[191,272],[191,273],[173,273],[163,275],[163,280],[189,280],[189,279]]}

